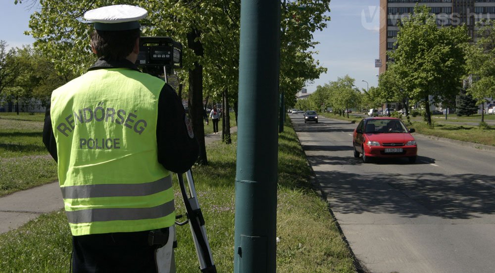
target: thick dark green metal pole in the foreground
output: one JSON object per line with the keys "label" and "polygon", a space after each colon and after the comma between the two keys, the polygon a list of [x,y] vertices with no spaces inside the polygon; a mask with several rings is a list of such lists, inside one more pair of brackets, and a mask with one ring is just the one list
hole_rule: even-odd
{"label": "thick dark green metal pole in the foreground", "polygon": [[235,273],[276,272],[280,0],[241,0]]}

